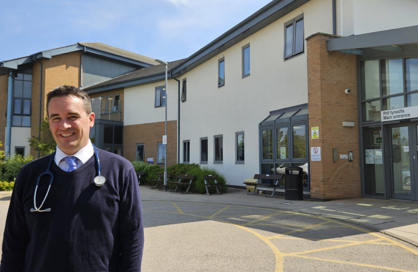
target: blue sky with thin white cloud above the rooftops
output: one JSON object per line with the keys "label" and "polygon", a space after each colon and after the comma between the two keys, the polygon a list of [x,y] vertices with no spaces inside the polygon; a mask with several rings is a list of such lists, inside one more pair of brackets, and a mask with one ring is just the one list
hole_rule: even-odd
{"label": "blue sky with thin white cloud above the rooftops", "polygon": [[166,61],[190,56],[271,0],[0,1],[0,61],[102,42]]}

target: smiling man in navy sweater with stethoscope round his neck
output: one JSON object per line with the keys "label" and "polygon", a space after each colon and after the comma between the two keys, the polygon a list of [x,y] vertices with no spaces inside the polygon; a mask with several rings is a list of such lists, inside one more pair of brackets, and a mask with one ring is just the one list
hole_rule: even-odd
{"label": "smiling man in navy sweater with stethoscope round his neck", "polygon": [[57,148],[16,178],[0,272],[141,271],[144,229],[132,165],[90,142],[94,113],[85,92],[57,87],[46,111]]}

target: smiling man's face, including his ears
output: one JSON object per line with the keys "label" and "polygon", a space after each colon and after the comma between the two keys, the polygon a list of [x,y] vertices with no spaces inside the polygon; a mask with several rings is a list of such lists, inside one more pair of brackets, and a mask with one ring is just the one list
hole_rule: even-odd
{"label": "smiling man's face, including his ears", "polygon": [[86,113],[83,100],[75,96],[54,97],[48,104],[49,129],[59,149],[74,155],[89,143],[94,113]]}

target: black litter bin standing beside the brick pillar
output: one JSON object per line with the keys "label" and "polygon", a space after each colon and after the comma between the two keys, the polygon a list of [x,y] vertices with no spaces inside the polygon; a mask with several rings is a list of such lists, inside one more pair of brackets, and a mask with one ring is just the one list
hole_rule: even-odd
{"label": "black litter bin standing beside the brick pillar", "polygon": [[286,172],[285,199],[286,200],[303,200],[303,169],[302,167],[288,166],[285,168],[285,172]]}

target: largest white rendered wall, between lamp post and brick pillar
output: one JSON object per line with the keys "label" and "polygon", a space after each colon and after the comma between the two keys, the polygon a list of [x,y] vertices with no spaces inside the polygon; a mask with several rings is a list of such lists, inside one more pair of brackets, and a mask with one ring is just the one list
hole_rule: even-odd
{"label": "largest white rendered wall, between lamp post and brick pillar", "polygon": [[[208,140],[207,166],[226,174],[231,185],[259,172],[258,124],[269,111],[308,102],[305,53],[284,61],[284,24],[304,14],[304,37],[332,33],[332,3],[315,0],[199,65],[187,78],[181,103],[180,158],[190,140],[190,163],[199,163],[200,138]],[[250,43],[250,76],[242,78],[242,46]],[[218,60],[225,57],[225,86],[218,88]],[[245,164],[235,164],[235,132],[245,133]],[[214,164],[214,136],[223,134],[223,164]]]}

